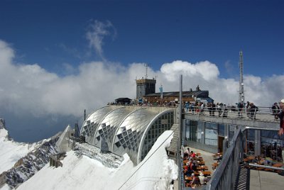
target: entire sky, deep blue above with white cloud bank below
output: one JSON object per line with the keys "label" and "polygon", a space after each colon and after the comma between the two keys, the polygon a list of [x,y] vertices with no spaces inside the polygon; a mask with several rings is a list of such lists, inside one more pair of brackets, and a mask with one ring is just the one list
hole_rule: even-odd
{"label": "entire sky, deep blue above with white cloud bank below", "polygon": [[[1,1],[0,118],[12,138],[48,138],[82,113],[156,91],[209,90],[235,104],[239,51],[245,100],[284,98],[284,1]],[[222,91],[222,93],[220,93]]]}

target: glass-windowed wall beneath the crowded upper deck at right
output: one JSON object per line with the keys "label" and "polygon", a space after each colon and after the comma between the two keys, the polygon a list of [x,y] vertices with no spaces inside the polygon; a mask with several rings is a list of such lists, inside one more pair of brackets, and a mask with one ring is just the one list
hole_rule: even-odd
{"label": "glass-windowed wall beneath the crowded upper deck at right", "polygon": [[[259,155],[271,163],[283,162],[284,135],[279,136],[278,130],[256,130],[245,128],[243,125],[230,125],[225,123],[212,123],[206,121],[191,121],[185,119],[185,140],[191,145],[206,147],[214,151],[223,151],[224,140],[233,140],[237,128],[244,128],[244,153],[246,155]],[[195,143],[193,143],[195,142]],[[200,145],[202,144],[202,145]],[[206,146],[205,146],[206,145]],[[207,146],[208,145],[208,146]]]}

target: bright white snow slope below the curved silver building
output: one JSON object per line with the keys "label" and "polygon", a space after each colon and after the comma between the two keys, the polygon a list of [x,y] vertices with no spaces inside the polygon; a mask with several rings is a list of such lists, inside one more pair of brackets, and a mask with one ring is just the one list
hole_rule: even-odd
{"label": "bright white snow slope below the curved silver building", "polygon": [[87,156],[78,157],[67,152],[62,167],[46,164],[31,179],[18,186],[21,189],[170,189],[170,182],[178,178],[178,166],[169,160],[165,147],[170,145],[173,131],[165,131],[146,158],[134,167],[129,155],[118,168],[104,167]]}

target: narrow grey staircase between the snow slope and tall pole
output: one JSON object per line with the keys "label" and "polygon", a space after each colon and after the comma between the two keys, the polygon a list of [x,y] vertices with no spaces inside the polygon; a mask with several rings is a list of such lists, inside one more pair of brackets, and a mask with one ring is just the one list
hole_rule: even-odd
{"label": "narrow grey staircase between the snow slope and tall pole", "polygon": [[168,157],[175,160],[178,154],[178,135],[180,133],[180,125],[174,123],[170,130],[173,130],[173,139],[170,141],[170,147],[167,147],[166,150]]}

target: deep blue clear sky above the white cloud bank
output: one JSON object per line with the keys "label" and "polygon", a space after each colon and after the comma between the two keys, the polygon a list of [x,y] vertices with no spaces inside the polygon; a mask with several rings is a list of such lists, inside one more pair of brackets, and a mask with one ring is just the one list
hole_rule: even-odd
{"label": "deep blue clear sky above the white cloud bank", "polygon": [[[91,21],[111,22],[104,57],[129,65],[209,60],[220,74],[283,74],[283,1],[2,1],[0,38],[18,62],[58,74],[62,63],[100,60],[85,38]],[[226,69],[226,66],[231,70]],[[257,67],[257,69],[256,69]]]}

